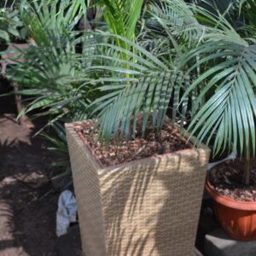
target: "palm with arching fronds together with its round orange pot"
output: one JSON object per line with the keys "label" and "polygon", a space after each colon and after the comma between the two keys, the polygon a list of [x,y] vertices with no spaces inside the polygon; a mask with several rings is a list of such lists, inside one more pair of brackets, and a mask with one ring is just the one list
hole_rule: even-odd
{"label": "palm with arching fronds together with its round orange pot", "polygon": [[[255,2],[244,4],[245,16],[253,17]],[[204,13],[205,17],[209,16],[206,11]],[[233,150],[241,157],[241,162],[225,163],[209,172],[207,191],[212,195],[216,216],[224,230],[236,239],[255,240],[254,20],[252,23],[246,20],[249,24],[244,23],[236,30],[224,16],[221,18],[218,26],[207,32],[205,42],[183,59],[183,63],[195,60],[189,72],[194,68],[201,69],[201,74],[187,91],[201,86],[195,101],[194,119],[188,130],[199,142],[213,142],[214,155]]]}

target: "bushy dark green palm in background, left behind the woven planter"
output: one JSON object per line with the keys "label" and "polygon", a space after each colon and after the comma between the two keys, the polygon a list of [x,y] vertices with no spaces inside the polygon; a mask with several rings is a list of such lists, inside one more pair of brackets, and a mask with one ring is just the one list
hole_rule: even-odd
{"label": "bushy dark green palm in background, left behind the woven planter", "polygon": [[82,83],[75,79],[84,77],[81,68],[85,65],[75,56],[82,41],[82,33],[76,32],[75,26],[86,15],[86,6],[81,3],[80,7],[73,1],[21,3],[21,19],[35,44],[20,52],[26,61],[10,72],[16,82],[23,84],[20,94],[30,99],[20,115],[39,108],[52,116],[51,123],[67,115],[84,118],[88,104],[84,95],[88,92],[78,91]]}

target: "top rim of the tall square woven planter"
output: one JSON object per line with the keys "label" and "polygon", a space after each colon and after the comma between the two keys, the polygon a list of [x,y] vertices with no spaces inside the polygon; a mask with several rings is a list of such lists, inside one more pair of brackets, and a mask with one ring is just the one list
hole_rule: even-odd
{"label": "top rim of the tall square woven planter", "polygon": [[[74,125],[83,125],[84,122],[83,121],[79,121],[79,122],[73,122],[73,123],[66,123],[65,126],[67,129],[73,129]],[[175,124],[176,127],[178,127],[178,125]],[[131,160],[129,162],[125,162],[122,164],[118,164],[118,165],[113,165],[113,166],[103,166],[102,162],[97,158],[96,154],[94,153],[94,150],[90,147],[90,145],[79,135],[79,133],[77,131],[75,131],[75,133],[79,136],[79,138],[81,139],[81,141],[84,143],[84,146],[88,149],[88,151],[90,152],[90,154],[95,158],[96,163],[101,166],[102,171],[107,171],[107,170],[111,170],[113,171],[114,169],[119,168],[120,166],[131,166],[133,164],[137,164],[138,162],[142,162],[143,160],[160,160],[162,158],[166,158],[168,156],[171,156],[172,154],[186,154],[187,152],[191,152],[191,151],[197,151],[199,149],[204,149],[204,150],[210,150],[210,148],[208,148],[205,144],[203,143],[199,143],[199,147],[195,148],[195,146],[192,144],[192,148],[185,148],[185,149],[181,149],[181,150],[177,150],[171,153],[166,153],[166,154],[157,154],[157,155],[151,155],[148,157],[144,157],[143,159],[140,160]],[[184,138],[189,137],[189,133],[184,132]],[[190,143],[194,143],[195,142],[195,137],[191,137],[189,139]]]}

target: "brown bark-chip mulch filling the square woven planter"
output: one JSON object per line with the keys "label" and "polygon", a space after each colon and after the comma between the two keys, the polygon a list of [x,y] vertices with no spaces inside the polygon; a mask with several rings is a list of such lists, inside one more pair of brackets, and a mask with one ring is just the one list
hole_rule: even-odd
{"label": "brown bark-chip mulch filling the square woven planter", "polygon": [[92,149],[93,154],[96,155],[103,167],[193,147],[190,143],[187,143],[177,129],[168,124],[163,125],[158,132],[155,132],[153,126],[149,124],[146,135],[143,137],[140,123],[137,125],[136,138],[126,139],[125,141],[112,139],[108,147],[105,147],[97,139],[98,131],[94,129],[94,125],[93,121],[88,120],[83,124],[74,125],[74,130],[78,132],[84,143]]}

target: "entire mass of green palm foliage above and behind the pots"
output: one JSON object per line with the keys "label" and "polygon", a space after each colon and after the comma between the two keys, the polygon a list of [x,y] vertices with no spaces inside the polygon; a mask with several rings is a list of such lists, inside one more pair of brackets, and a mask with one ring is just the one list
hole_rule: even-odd
{"label": "entire mass of green palm foliage above and behind the pots", "polygon": [[118,134],[135,137],[141,116],[143,134],[149,120],[160,130],[166,113],[215,155],[255,156],[254,0],[24,0],[14,6],[2,9],[0,37],[19,37],[23,26],[35,41],[9,73],[20,95],[30,97],[20,115],[38,109],[48,116],[61,143],[45,137],[66,158],[65,122],[96,118],[108,143]]}

